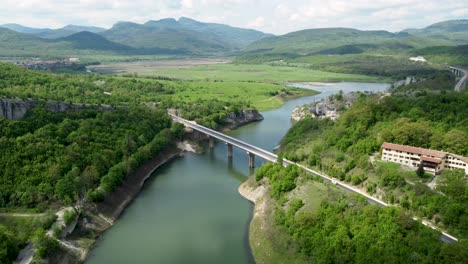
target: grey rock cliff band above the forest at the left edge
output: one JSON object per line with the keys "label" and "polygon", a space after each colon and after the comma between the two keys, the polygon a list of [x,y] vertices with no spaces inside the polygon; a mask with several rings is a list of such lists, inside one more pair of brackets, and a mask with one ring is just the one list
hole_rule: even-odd
{"label": "grey rock cliff band above the forest at the left edge", "polygon": [[[22,99],[0,99],[0,118],[10,120],[22,119],[26,113],[36,106],[42,106],[47,111],[54,113],[65,112],[69,110],[78,111],[84,108],[95,107],[84,104],[70,104],[57,101],[39,101],[39,100],[22,100]],[[112,110],[110,106],[98,106],[99,110]]]}

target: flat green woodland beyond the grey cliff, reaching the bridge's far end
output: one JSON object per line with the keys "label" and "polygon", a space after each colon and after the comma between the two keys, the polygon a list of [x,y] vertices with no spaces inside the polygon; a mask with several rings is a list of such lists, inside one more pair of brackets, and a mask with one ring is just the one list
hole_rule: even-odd
{"label": "flat green woodland beyond the grey cliff, reaching the bridge's far end", "polygon": [[[168,78],[51,74],[0,63],[0,97],[4,98],[34,98],[112,106],[141,106],[153,103],[161,109],[177,108],[184,117],[196,119],[197,122],[212,128],[222,125],[228,113],[250,106],[245,100],[219,95],[206,98],[200,98],[198,95],[195,100],[186,95],[179,95],[200,90],[200,85],[202,84]],[[281,89],[280,86],[274,85],[267,88],[265,94],[272,92],[272,89]]]}

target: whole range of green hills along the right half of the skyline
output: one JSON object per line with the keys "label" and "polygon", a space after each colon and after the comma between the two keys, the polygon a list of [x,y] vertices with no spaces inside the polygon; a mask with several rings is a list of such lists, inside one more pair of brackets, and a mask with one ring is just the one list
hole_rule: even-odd
{"label": "whole range of green hills along the right half of the skyline", "polygon": [[399,33],[350,28],[320,28],[292,32],[256,41],[247,53],[353,54],[402,51],[430,46],[468,44],[468,20],[437,23]]}

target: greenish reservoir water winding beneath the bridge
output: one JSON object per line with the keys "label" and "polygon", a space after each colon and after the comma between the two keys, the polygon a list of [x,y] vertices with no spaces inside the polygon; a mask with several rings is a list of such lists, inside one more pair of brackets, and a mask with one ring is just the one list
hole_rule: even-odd
{"label": "greenish reservoir water winding beneath the bridge", "polygon": [[[321,94],[262,112],[265,120],[229,135],[273,150],[291,127],[291,111],[337,93],[383,91],[381,83],[291,84]],[[264,161],[256,158],[258,168]],[[248,224],[253,205],[237,192],[253,171],[245,151],[217,142],[204,154],[185,153],[157,170],[106,231],[86,263],[252,263]]]}

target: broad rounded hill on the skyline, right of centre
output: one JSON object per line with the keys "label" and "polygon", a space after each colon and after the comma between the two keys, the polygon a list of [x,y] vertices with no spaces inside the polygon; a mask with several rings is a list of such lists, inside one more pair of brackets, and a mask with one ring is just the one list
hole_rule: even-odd
{"label": "broad rounded hill on the skyline, right of centre", "polygon": [[[450,45],[447,40],[412,36],[406,32],[362,31],[350,28],[320,28],[261,39],[245,53],[352,54],[374,50],[410,50],[432,45]],[[338,49],[338,51],[336,50]],[[350,52],[347,52],[350,50]]]}

